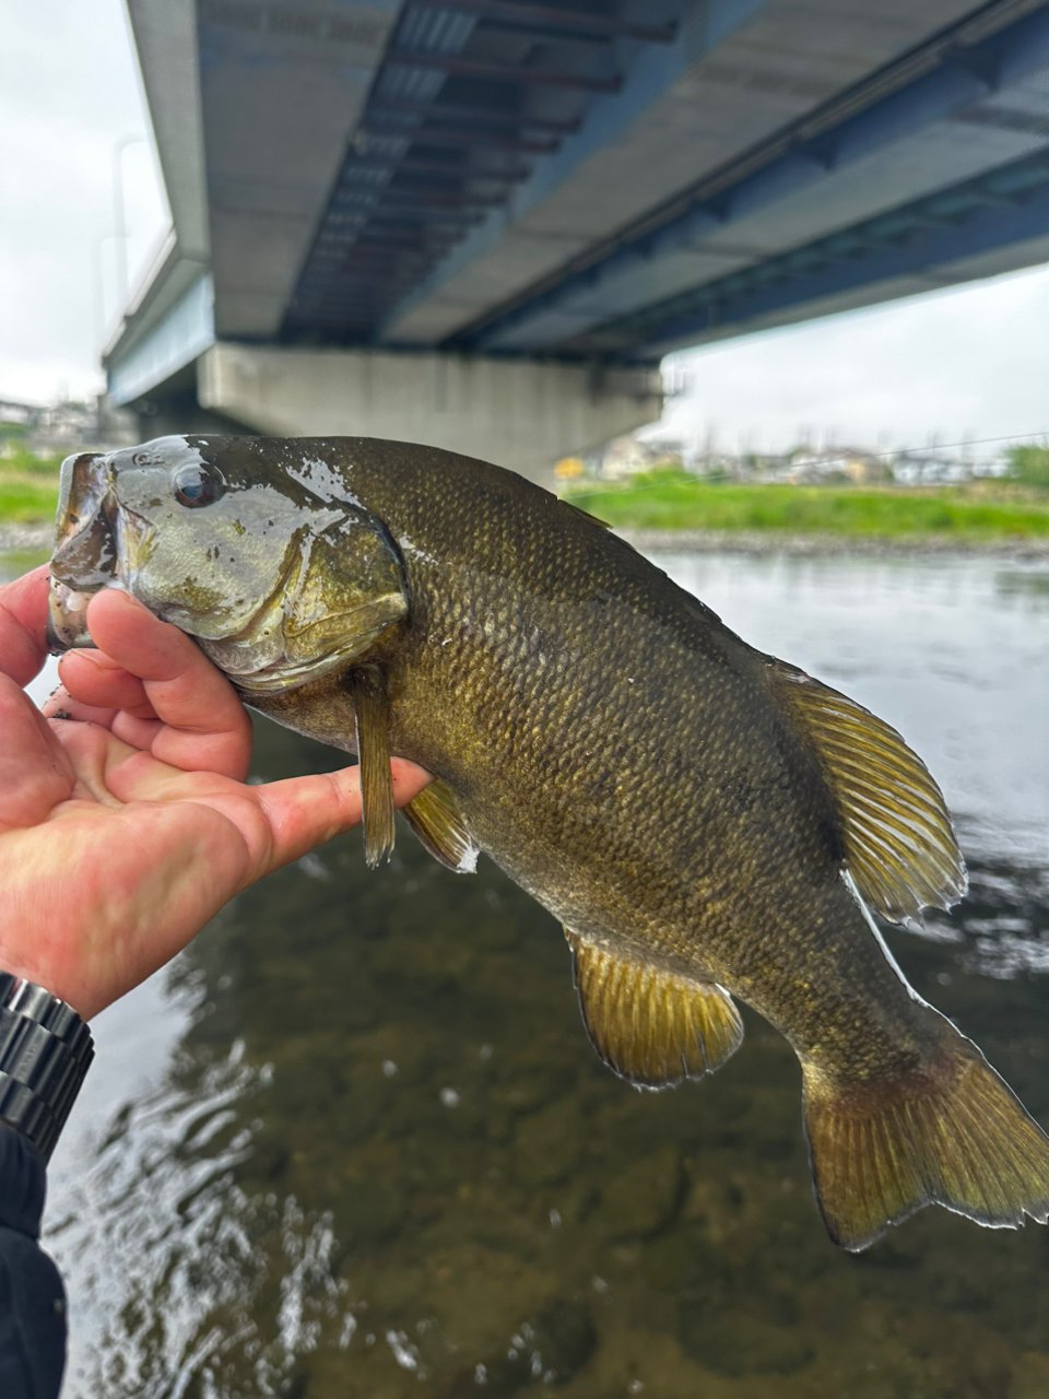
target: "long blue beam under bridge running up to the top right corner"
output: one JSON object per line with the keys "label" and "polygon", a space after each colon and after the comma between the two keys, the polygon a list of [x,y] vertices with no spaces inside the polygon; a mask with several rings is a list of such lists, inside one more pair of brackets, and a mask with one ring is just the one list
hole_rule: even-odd
{"label": "long blue beam under bridge running up to the top right corner", "polygon": [[[932,126],[1049,64],[1049,8],[1042,7],[965,49],[947,48],[932,70],[835,127],[796,140],[736,182],[712,176],[702,192],[666,222],[627,238],[585,270],[572,273],[502,315],[457,333],[449,347],[481,353],[550,348],[592,326],[662,299],[681,288],[705,238],[901,137]],[[740,164],[752,165],[754,157]],[[694,273],[692,273],[694,274]]]}

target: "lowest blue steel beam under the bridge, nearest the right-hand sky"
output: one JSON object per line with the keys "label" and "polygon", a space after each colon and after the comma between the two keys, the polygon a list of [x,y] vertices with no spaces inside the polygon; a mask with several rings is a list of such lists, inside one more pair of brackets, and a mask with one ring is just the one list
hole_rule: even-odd
{"label": "lowest blue steel beam under the bridge, nearest the right-hand sky", "polygon": [[650,364],[726,326],[745,332],[796,306],[1038,238],[1049,239],[1049,151],[610,322],[571,348],[576,357]]}

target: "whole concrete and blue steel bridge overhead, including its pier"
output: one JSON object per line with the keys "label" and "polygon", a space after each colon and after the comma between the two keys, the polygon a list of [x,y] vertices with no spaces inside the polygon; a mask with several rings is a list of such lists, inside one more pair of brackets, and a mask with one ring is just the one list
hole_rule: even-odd
{"label": "whole concrete and blue steel bridge overhead, including its pier", "polygon": [[1049,3],[127,0],[172,232],[152,432],[529,474],[671,350],[1049,260]]}

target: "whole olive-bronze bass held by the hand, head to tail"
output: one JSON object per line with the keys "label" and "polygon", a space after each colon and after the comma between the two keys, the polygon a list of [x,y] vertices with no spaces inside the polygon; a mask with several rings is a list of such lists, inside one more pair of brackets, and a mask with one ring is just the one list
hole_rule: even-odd
{"label": "whole olive-bronze bass held by the hand, head to tail", "polygon": [[702,1079],[737,1002],[803,1079],[815,1199],[859,1251],[936,1203],[1049,1219],[1049,1139],[906,982],[874,922],[966,874],[943,793],[890,725],[747,645],[599,520],[512,471],[368,438],[165,436],[62,469],[53,649],[117,586],[242,700],[355,753],[369,865],[406,807],[564,926],[622,1079]]}

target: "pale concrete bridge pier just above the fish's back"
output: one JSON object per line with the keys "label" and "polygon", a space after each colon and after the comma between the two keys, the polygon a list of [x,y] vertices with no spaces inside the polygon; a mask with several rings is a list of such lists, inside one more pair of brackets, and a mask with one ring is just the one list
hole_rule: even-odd
{"label": "pale concrete bridge pier just above the fish's back", "polygon": [[657,369],[220,341],[197,399],[277,436],[380,436],[478,456],[541,484],[558,457],[656,420]]}

